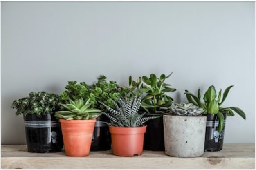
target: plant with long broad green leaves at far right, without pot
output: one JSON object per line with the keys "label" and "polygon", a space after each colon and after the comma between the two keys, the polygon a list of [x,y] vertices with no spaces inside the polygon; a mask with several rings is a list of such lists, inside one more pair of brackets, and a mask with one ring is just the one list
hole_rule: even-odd
{"label": "plant with long broad green leaves at far right, without pot", "polygon": [[[218,126],[218,132],[221,132],[224,126],[224,115],[227,113],[227,116],[234,116],[234,112],[239,114],[243,119],[245,119],[245,113],[243,110],[241,110],[238,107],[220,107],[225,99],[227,98],[227,95],[229,93],[229,90],[233,87],[233,85],[227,87],[223,93],[222,96],[222,90],[218,92],[218,96],[216,93],[216,89],[213,85],[211,85],[208,90],[204,93],[204,104],[200,101],[201,100],[201,94],[200,89],[198,89],[198,95],[195,96],[194,94],[190,93],[188,90],[185,90],[186,98],[189,101],[189,103],[193,103],[193,105],[199,106],[204,110],[204,114],[217,114],[219,119],[219,126]],[[234,111],[234,112],[233,112]]]}

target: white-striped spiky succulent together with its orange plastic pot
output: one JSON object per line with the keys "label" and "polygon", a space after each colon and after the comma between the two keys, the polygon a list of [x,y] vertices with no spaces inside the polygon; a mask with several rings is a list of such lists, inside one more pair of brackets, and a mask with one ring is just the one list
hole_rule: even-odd
{"label": "white-striped spiky succulent together with its orange plastic pot", "polygon": [[141,96],[119,98],[118,104],[113,102],[115,109],[102,103],[110,113],[102,112],[110,119],[109,125],[112,151],[117,156],[141,155],[143,150],[144,133],[146,125],[144,123],[157,116],[143,117],[145,113],[139,114]]}

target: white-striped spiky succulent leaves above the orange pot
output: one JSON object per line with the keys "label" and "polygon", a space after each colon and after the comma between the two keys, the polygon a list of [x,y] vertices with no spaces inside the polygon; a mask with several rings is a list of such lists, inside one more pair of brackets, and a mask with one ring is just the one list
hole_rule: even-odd
{"label": "white-striped spiky succulent leaves above the orange pot", "polygon": [[139,114],[139,107],[141,105],[141,96],[132,96],[131,98],[118,97],[117,103],[113,101],[115,109],[99,101],[110,113],[102,112],[108,116],[110,126],[117,127],[139,127],[150,119],[158,118],[159,116],[143,117],[146,113]]}

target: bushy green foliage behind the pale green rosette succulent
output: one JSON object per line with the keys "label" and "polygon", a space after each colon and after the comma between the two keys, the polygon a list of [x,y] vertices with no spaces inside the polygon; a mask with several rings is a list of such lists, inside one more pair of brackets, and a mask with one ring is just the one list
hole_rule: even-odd
{"label": "bushy green foliage behind the pale green rosette succulent", "polygon": [[68,81],[65,91],[61,93],[62,102],[69,102],[69,99],[76,100],[83,98],[87,101],[90,98],[92,108],[106,111],[105,107],[98,101],[103,101],[110,107],[114,107],[113,101],[117,101],[117,96],[121,96],[121,88],[115,81],[106,81],[106,76],[100,76],[97,83],[87,85],[85,82],[77,83],[76,81]]}

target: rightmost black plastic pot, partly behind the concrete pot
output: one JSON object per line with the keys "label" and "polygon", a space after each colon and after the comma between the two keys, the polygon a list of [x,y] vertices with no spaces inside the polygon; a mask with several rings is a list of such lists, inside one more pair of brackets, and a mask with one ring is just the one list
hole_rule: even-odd
{"label": "rightmost black plastic pot, partly behind the concrete pot", "polygon": [[222,150],[225,122],[227,114],[224,115],[224,126],[222,132],[218,132],[219,120],[216,114],[207,114],[204,151],[216,152]]}

